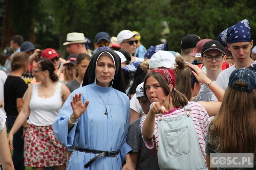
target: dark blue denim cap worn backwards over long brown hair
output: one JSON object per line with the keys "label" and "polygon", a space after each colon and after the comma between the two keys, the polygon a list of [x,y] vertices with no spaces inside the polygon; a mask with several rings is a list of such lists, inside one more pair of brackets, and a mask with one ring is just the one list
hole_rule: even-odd
{"label": "dark blue denim cap worn backwards over long brown hair", "polygon": [[[245,82],[247,86],[235,85],[239,81]],[[229,76],[228,86],[236,90],[252,92],[256,88],[256,72],[245,68],[236,69]]]}

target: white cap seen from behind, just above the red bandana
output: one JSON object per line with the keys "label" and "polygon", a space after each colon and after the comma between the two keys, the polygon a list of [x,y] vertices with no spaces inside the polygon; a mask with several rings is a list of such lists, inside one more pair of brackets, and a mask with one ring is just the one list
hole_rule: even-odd
{"label": "white cap seen from behind, just above the red bandana", "polygon": [[175,63],[175,56],[168,51],[158,51],[148,61],[150,69],[159,67],[173,68]]}

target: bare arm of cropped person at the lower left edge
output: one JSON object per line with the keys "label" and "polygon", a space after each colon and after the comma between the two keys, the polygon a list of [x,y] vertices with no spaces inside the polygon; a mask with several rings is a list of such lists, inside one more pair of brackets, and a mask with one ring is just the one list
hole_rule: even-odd
{"label": "bare arm of cropped person at the lower left edge", "polygon": [[0,162],[4,170],[14,170],[10,149],[8,147],[8,139],[6,127],[0,132]]}

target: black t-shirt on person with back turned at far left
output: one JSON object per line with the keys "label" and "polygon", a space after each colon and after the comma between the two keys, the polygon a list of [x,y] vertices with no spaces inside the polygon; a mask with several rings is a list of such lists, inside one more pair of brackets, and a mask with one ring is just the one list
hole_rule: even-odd
{"label": "black t-shirt on person with back turned at far left", "polygon": [[3,86],[4,110],[7,116],[18,116],[17,98],[22,98],[28,86],[17,76],[9,75]]}

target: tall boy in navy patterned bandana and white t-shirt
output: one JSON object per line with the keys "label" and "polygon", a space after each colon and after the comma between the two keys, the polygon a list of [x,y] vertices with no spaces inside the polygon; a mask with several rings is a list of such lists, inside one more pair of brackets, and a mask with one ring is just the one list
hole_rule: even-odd
{"label": "tall boy in navy patterned bandana and white t-shirt", "polygon": [[[226,90],[229,75],[238,68],[250,66],[254,61],[250,58],[253,39],[250,32],[250,22],[244,19],[237,24],[229,27],[218,35],[218,41],[231,51],[236,64],[223,70],[216,80],[216,84]],[[217,101],[213,96],[212,100]]]}

